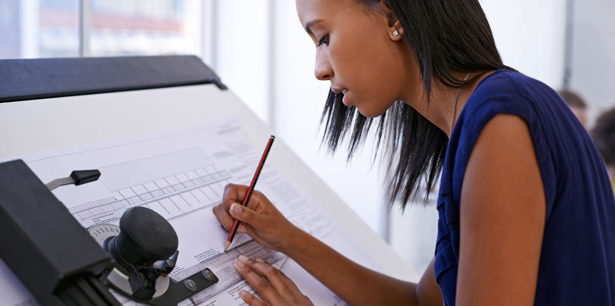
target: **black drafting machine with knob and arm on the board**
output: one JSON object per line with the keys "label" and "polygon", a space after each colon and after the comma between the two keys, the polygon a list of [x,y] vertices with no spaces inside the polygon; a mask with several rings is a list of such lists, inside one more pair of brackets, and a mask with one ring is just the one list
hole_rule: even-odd
{"label": "black drafting machine with knob and arm on the board", "polygon": [[[154,306],[177,305],[218,282],[209,269],[183,281],[170,280],[168,274],[179,254],[177,234],[166,219],[149,208],[137,206],[125,211],[127,218],[122,216],[120,227],[124,224],[122,232],[130,235],[120,232],[103,247],[98,245],[50,192],[98,178],[98,170],[73,171],[69,177],[45,185],[22,160],[0,163],[0,258],[39,303],[121,306],[109,292],[109,287],[114,287],[109,275],[125,271],[127,266],[135,268],[128,271],[129,288],[135,290],[122,293]],[[166,242],[154,240],[161,233],[144,231],[153,228],[148,223],[153,220],[157,220],[157,226],[167,224],[161,227],[169,238]],[[153,297],[161,278],[169,285],[164,293]]]}

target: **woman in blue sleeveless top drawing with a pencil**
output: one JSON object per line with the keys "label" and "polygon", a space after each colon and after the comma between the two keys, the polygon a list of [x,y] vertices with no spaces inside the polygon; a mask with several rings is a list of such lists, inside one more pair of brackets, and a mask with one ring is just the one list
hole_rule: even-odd
{"label": "woman in blue sleeveless top drawing with a pencil", "polygon": [[[352,152],[379,117],[402,203],[443,169],[435,257],[416,284],[365,269],[263,194],[242,208],[245,186],[227,186],[213,210],[226,229],[239,219],[351,305],[615,305],[615,199],[600,155],[554,90],[502,64],[477,0],[296,6],[315,76],[331,82],[328,146],[349,132]],[[236,269],[263,299],[241,291],[250,305],[311,304],[262,259]]]}

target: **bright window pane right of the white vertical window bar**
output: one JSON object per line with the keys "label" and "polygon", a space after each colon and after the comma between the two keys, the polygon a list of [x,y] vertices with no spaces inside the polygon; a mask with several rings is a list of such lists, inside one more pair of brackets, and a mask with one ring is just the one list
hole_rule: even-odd
{"label": "bright window pane right of the white vertical window bar", "polygon": [[201,53],[202,1],[92,0],[92,56]]}

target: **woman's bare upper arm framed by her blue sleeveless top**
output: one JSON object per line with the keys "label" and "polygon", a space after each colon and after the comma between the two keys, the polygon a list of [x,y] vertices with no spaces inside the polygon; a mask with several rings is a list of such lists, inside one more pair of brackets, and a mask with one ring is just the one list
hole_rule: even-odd
{"label": "woman's bare upper arm framed by her blue sleeveless top", "polygon": [[530,130],[494,117],[478,137],[461,191],[456,305],[533,305],[546,200]]}

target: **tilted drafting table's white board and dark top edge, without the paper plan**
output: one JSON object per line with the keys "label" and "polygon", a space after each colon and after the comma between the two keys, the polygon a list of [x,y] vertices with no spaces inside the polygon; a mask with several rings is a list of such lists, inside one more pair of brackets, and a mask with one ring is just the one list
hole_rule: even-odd
{"label": "tilted drafting table's white board and dark top edge, without the paper plan", "polygon": [[[220,114],[239,114],[255,147],[275,134],[194,56],[0,60],[0,160],[186,128]],[[268,163],[320,203],[380,272],[418,280],[284,139]]]}

